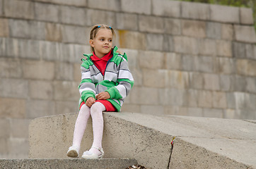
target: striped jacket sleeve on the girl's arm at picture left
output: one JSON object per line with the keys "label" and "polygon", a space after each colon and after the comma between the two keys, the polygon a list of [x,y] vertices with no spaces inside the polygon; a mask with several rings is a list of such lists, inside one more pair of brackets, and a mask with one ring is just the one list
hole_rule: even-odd
{"label": "striped jacket sleeve on the girl's arm at picture left", "polygon": [[78,86],[79,93],[81,95],[81,100],[86,101],[89,97],[95,98],[96,88],[95,84],[91,80],[91,71],[89,65],[86,64],[86,61],[83,61],[81,65],[81,82]]}

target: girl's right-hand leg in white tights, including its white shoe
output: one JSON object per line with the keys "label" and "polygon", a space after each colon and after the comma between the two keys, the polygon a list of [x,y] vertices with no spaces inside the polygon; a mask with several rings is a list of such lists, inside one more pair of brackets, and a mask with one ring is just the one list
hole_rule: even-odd
{"label": "girl's right-hand leg in white tights, including its white shoe", "polygon": [[89,152],[100,155],[101,152],[97,148],[102,148],[103,140],[103,111],[105,106],[100,102],[96,102],[91,106],[91,118],[93,120],[93,146]]}

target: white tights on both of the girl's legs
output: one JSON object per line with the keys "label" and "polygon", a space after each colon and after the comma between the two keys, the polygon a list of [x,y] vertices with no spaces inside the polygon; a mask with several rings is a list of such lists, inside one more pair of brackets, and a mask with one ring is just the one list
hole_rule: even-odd
{"label": "white tights on both of the girl's legs", "polygon": [[[74,129],[73,145],[80,149],[81,141],[83,138],[83,133],[86,130],[86,125],[88,118],[91,115],[93,120],[93,145],[92,147],[102,148],[103,139],[103,111],[105,111],[105,106],[100,102],[95,102],[91,108],[83,104],[81,107],[78,117],[76,118],[76,125]],[[91,153],[100,155],[98,149],[91,148],[89,150]]]}

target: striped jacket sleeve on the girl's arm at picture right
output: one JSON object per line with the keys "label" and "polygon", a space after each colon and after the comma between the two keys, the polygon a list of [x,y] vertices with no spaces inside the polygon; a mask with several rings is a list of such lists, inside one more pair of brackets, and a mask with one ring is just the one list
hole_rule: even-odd
{"label": "striped jacket sleeve on the girl's arm at picture right", "polygon": [[117,71],[117,85],[106,90],[110,94],[110,99],[126,98],[134,85],[134,78],[125,58],[117,65]]}

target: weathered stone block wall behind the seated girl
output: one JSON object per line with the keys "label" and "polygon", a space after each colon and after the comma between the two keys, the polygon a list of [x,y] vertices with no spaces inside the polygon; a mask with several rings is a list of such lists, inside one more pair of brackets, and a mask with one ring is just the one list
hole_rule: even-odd
{"label": "weathered stone block wall behind the seated girl", "polygon": [[252,10],[168,0],[0,0],[0,158],[28,124],[78,111],[92,25],[115,28],[135,79],[123,111],[256,119]]}

